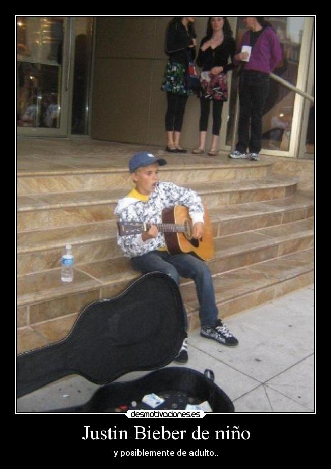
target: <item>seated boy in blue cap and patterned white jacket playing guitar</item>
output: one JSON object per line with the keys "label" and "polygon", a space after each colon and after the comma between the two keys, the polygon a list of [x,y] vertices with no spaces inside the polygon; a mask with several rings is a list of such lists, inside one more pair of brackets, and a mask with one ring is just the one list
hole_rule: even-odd
{"label": "seated boy in blue cap and patterned white jacket playing guitar", "polygon": [[[189,228],[181,236],[190,246],[204,242],[204,207],[201,198],[191,189],[179,187],[171,182],[159,182],[159,166],[166,165],[164,159],[156,158],[152,153],[136,153],[129,162],[129,170],[135,188],[127,197],[118,201],[115,214],[119,217],[118,245],[124,255],[130,258],[133,268],[142,273],[160,271],[172,277],[179,287],[180,277],[193,279],[199,300],[200,334],[208,339],[234,346],[238,340],[218,319],[214,287],[207,264],[197,258],[198,253],[180,252],[171,254],[166,238],[159,228],[164,228],[162,213],[174,206],[187,207]],[[175,220],[176,221],[176,220]],[[121,233],[121,225],[144,225],[139,234]],[[162,226],[161,226],[162,225]],[[185,225],[185,224],[184,224]],[[207,231],[207,230],[206,230]],[[202,240],[202,241],[201,241]],[[168,247],[168,249],[167,249]],[[194,250],[191,250],[194,252]],[[213,251],[211,251],[213,253]],[[207,255],[210,256],[210,253]],[[175,361],[186,363],[187,338]]]}

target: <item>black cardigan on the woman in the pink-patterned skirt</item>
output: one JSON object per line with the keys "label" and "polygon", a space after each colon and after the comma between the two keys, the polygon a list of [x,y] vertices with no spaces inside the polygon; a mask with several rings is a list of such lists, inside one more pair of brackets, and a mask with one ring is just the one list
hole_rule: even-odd
{"label": "black cardigan on the woman in the pink-patterned skirt", "polygon": [[205,52],[201,50],[201,46],[209,39],[203,38],[199,48],[199,54],[197,58],[197,65],[203,69],[204,72],[211,70],[213,67],[223,67],[223,73],[227,73],[229,70],[233,70],[235,65],[233,63],[228,64],[229,57],[232,58],[236,53],[236,43],[232,37],[224,38],[222,44],[215,49],[208,47]]}

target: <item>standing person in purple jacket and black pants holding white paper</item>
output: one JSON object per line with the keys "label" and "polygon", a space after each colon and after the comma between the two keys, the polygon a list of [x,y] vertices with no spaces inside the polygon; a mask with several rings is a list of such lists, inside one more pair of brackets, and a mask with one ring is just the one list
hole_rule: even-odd
{"label": "standing person in purple jacket and black pants holding white paper", "polygon": [[258,161],[269,74],[282,60],[282,49],[277,34],[264,16],[246,16],[244,21],[249,31],[238,49],[241,52],[234,56],[234,62],[245,64],[239,81],[239,141],[229,158]]}

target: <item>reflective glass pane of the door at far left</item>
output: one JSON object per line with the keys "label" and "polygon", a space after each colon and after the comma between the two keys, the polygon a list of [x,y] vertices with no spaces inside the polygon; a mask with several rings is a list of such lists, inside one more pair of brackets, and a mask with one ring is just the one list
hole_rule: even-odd
{"label": "reflective glass pane of the door at far left", "polygon": [[63,20],[17,18],[17,125],[60,127]]}

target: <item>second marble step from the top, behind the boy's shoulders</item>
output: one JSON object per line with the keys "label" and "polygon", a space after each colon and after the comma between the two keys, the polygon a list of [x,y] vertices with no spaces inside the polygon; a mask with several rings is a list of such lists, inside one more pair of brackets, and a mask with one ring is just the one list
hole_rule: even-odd
{"label": "second marble step from the top, behind the boy's shoulders", "polygon": [[[298,179],[272,176],[267,179],[189,184],[209,207],[283,199],[296,191]],[[109,190],[37,194],[17,198],[17,231],[74,226],[115,219],[118,199],[129,187]]]}

